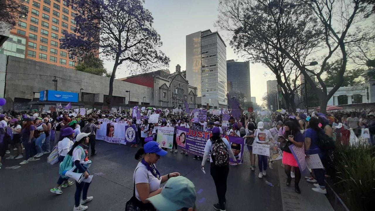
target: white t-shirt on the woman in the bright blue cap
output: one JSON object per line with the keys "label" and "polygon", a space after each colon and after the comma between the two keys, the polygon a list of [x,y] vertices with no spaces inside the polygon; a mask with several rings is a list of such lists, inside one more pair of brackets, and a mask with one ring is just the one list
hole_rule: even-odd
{"label": "white t-shirt on the woman in the bright blue cap", "polygon": [[[157,179],[154,175],[152,175],[152,173],[149,170],[147,170],[147,167],[141,162],[139,162],[137,167],[135,168],[133,178],[135,184],[148,183],[150,193],[156,191],[160,187],[161,178]],[[139,197],[138,190],[136,187],[135,197],[139,201],[141,201],[141,198]]]}

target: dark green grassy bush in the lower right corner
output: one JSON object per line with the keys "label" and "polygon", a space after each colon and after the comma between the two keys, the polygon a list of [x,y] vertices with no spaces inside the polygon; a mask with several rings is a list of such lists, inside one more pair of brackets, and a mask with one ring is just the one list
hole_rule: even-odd
{"label": "dark green grassy bush in the lower right corner", "polygon": [[374,209],[375,148],[359,143],[338,145],[330,155],[333,188],[350,210]]}

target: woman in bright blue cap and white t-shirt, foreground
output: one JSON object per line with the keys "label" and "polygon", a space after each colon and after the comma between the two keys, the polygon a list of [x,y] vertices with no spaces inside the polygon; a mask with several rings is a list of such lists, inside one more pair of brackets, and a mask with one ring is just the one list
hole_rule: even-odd
{"label": "woman in bright blue cap and white t-shirt, foreground", "polygon": [[171,177],[180,176],[178,172],[161,176],[156,169],[155,163],[160,159],[160,156],[166,154],[167,152],[161,148],[159,143],[154,141],[147,142],[143,148],[138,149],[135,159],[143,158],[134,171],[133,197],[126,203],[127,208],[132,206],[133,208],[139,208],[139,210],[156,210],[146,199],[162,191],[161,183],[168,181]]}

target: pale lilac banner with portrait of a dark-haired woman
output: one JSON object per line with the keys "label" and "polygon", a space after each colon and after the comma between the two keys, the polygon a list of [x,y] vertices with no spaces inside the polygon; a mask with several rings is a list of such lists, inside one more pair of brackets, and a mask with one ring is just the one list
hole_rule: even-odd
{"label": "pale lilac banner with portrait of a dark-haired woman", "polygon": [[[100,129],[96,130],[96,139],[104,140],[109,143],[125,143],[125,124],[116,123],[109,119],[102,119]],[[135,133],[135,132],[134,132]],[[125,136],[124,136],[125,134]]]}

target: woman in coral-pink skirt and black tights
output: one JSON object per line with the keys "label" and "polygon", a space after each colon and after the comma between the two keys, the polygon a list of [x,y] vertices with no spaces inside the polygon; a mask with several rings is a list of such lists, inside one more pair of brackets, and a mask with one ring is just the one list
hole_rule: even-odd
{"label": "woman in coral-pink skirt and black tights", "polygon": [[[284,139],[291,142],[294,146],[302,147],[303,146],[303,135],[301,134],[298,125],[294,121],[287,121],[285,122],[285,133],[284,133]],[[301,193],[299,182],[301,179],[301,172],[298,168],[298,164],[296,159],[294,158],[293,154],[288,151],[283,151],[282,154],[282,163],[285,165],[285,173],[287,174],[287,186],[290,185],[291,182],[291,168],[294,167],[294,190],[296,193]]]}

